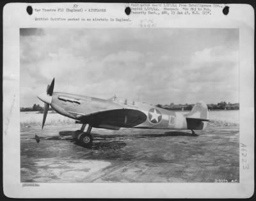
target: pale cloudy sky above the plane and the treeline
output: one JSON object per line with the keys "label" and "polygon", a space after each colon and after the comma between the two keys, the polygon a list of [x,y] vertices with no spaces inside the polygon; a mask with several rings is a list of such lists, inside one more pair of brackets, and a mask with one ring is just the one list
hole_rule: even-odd
{"label": "pale cloudy sky above the plane and the treeline", "polygon": [[20,29],[20,107],[43,105],[53,77],[104,99],[237,103],[239,29]]}

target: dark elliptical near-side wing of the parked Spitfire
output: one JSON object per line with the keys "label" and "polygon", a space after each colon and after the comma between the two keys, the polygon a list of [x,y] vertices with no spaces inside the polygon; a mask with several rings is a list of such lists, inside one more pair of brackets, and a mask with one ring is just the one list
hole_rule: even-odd
{"label": "dark elliptical near-side wing of the parked Spitfire", "polygon": [[132,128],[143,123],[147,119],[140,110],[120,108],[113,110],[102,110],[86,115],[80,115],[78,119],[83,123],[89,123],[96,128]]}

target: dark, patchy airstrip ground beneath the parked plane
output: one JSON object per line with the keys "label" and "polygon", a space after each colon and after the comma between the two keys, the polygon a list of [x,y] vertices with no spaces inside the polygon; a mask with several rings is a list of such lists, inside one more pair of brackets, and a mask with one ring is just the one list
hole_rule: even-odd
{"label": "dark, patchy airstrip ground beneath the parked plane", "polygon": [[[22,125],[21,182],[239,182],[239,126],[206,130],[92,130],[90,149],[66,126]],[[36,143],[35,134],[40,137]]]}

